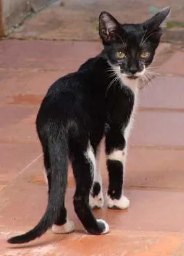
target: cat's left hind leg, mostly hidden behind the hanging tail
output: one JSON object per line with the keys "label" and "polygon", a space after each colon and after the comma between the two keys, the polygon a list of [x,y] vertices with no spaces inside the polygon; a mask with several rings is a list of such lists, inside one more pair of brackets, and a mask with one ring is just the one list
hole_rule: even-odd
{"label": "cat's left hind leg, mostly hidden behind the hanging tail", "polygon": [[[44,148],[44,167],[44,176],[48,185],[48,194],[50,194],[52,171],[50,166],[50,158],[46,147]],[[52,225],[52,232],[55,234],[63,234],[72,231],[74,231],[74,223],[67,218],[67,210],[65,208],[65,204],[63,204],[57,220],[55,221],[54,225]]]}

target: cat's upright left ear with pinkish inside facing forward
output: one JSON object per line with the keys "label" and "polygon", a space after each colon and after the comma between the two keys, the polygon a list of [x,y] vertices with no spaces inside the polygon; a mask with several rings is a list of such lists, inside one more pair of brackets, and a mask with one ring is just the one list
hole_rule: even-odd
{"label": "cat's upright left ear with pinkish inside facing forward", "polygon": [[116,37],[119,22],[108,12],[101,12],[99,16],[99,34],[104,43],[110,43]]}

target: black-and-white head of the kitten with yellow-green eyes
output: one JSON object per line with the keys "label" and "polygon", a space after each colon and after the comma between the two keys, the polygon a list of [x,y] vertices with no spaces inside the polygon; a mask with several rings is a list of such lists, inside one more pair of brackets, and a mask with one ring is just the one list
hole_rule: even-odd
{"label": "black-and-white head of the kitten with yellow-green eyes", "polygon": [[170,7],[141,24],[120,24],[108,12],[99,16],[99,34],[109,64],[117,75],[137,79],[144,75],[159,45]]}

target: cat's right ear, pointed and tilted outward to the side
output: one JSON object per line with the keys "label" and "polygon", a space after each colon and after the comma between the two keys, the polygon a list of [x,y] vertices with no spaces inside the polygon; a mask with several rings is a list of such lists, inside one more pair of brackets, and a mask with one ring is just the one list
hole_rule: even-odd
{"label": "cat's right ear, pointed and tilted outward to the side", "polygon": [[166,26],[166,20],[170,14],[170,7],[165,7],[153,16],[151,19],[144,22],[144,27],[147,31],[153,31]]}

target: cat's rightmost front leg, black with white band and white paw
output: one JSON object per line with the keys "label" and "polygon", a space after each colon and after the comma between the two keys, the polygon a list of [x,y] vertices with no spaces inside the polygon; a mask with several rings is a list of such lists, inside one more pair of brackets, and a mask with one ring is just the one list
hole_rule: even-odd
{"label": "cat's rightmost front leg, black with white band and white paw", "polygon": [[109,176],[107,206],[111,209],[127,209],[129,199],[123,195],[123,174],[127,145],[120,129],[110,129],[106,134],[106,156]]}

